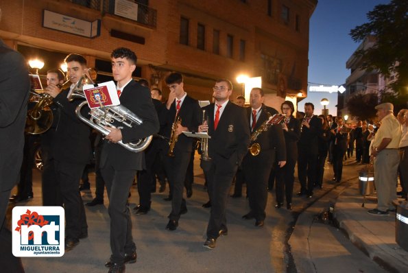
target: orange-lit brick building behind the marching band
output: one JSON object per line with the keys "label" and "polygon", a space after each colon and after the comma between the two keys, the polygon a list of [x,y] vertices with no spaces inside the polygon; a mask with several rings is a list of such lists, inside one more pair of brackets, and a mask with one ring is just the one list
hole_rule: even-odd
{"label": "orange-lit brick building behind the marching band", "polygon": [[[277,93],[306,96],[309,18],[316,5],[317,0],[2,1],[0,37],[27,59],[43,58],[43,74],[77,53],[99,69],[100,80],[108,80],[110,51],[129,47],[139,58],[134,76],[162,87],[165,95],[165,75],[179,71],[197,99],[211,99],[217,78],[231,79],[234,97],[240,95],[235,79],[241,73],[262,76],[269,99]],[[56,20],[65,29],[57,30]],[[79,35],[66,32],[81,22],[91,26],[93,38],[81,27]]]}

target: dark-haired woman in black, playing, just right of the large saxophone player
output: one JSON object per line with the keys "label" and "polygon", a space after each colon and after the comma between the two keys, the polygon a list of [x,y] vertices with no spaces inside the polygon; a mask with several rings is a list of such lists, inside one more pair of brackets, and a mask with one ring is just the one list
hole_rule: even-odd
{"label": "dark-haired woman in black, playing, just right of the large saxophone player", "polygon": [[285,101],[280,106],[285,119],[282,123],[286,143],[286,165],[276,169],[276,205],[278,209],[283,205],[286,195],[287,209],[292,209],[293,182],[295,180],[295,165],[298,160],[298,140],[300,138],[300,121],[293,117],[295,110],[292,102]]}

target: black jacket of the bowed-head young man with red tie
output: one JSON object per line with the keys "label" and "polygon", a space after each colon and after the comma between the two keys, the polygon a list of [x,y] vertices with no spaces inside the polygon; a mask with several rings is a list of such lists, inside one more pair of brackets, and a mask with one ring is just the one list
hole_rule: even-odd
{"label": "black jacket of the bowed-head young man with red tie", "polygon": [[[167,109],[167,108],[166,108]],[[189,132],[196,132],[198,126],[201,124],[200,121],[200,105],[196,99],[189,97],[187,95],[181,105],[178,112],[181,118],[181,125],[189,128]],[[167,112],[167,123],[165,126],[165,137],[170,137],[171,126],[173,125],[174,119],[176,118],[176,104],[173,102],[170,109]],[[187,137],[184,134],[179,134],[176,145],[174,146],[174,154],[177,152],[192,152],[193,150],[193,138]],[[167,149],[169,145],[167,143]]]}

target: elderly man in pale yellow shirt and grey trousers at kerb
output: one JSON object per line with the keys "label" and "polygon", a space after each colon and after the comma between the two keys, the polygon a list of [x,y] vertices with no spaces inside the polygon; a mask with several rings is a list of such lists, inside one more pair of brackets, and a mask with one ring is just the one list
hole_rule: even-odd
{"label": "elderly man in pale yellow shirt and grey trousers at kerb", "polygon": [[374,157],[374,183],[378,202],[376,209],[368,211],[372,215],[388,215],[395,211],[392,204],[396,200],[396,181],[400,157],[398,145],[401,138],[401,126],[393,115],[394,106],[389,102],[376,107],[381,127],[376,132],[372,144],[371,156]]}

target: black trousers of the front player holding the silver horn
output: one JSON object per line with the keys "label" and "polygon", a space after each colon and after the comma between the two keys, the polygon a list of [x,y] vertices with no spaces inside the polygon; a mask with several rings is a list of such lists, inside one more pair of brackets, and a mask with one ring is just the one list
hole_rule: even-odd
{"label": "black trousers of the front player holding the silver horn", "polygon": [[101,174],[106,182],[109,198],[110,249],[112,250],[110,261],[121,265],[125,254],[136,251],[136,244],[132,237],[132,220],[127,205],[136,169],[115,170],[107,162],[101,169]]}

